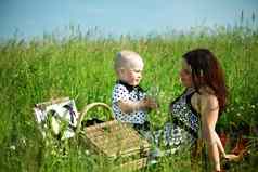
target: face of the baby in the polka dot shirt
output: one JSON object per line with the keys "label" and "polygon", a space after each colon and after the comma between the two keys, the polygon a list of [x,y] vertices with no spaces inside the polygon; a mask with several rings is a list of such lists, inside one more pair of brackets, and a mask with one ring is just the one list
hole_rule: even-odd
{"label": "face of the baby in the polka dot shirt", "polygon": [[142,79],[143,66],[142,59],[130,62],[127,67],[120,69],[119,79],[130,85],[138,85]]}

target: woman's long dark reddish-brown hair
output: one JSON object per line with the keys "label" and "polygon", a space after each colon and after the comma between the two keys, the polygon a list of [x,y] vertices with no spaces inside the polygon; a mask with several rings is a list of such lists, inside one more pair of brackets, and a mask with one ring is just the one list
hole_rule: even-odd
{"label": "woman's long dark reddish-brown hair", "polygon": [[207,49],[195,49],[183,55],[183,58],[191,66],[193,84],[196,91],[207,85],[212,89],[219,101],[219,114],[227,105],[228,88],[225,85],[224,72],[217,57]]}

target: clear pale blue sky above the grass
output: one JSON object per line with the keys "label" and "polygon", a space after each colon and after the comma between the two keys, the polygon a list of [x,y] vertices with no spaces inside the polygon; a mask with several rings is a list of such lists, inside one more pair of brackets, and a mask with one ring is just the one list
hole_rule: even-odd
{"label": "clear pale blue sky above the grass", "polygon": [[103,35],[147,35],[196,26],[235,25],[258,16],[258,0],[1,0],[0,38],[42,36],[80,26]]}

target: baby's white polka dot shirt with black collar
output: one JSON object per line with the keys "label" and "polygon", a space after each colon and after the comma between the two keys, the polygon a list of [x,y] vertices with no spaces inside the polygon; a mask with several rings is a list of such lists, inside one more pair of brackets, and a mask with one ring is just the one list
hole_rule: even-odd
{"label": "baby's white polka dot shirt with black collar", "polygon": [[112,108],[115,115],[115,119],[129,122],[129,123],[139,123],[142,124],[146,121],[146,111],[137,110],[132,113],[122,113],[118,106],[119,101],[141,101],[145,97],[144,91],[139,87],[129,85],[122,81],[117,81],[113,89],[112,94]]}

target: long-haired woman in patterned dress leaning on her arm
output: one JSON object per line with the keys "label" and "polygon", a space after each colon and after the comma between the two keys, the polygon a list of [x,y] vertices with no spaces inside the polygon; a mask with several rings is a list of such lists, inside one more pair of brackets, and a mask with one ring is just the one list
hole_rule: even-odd
{"label": "long-haired woman in patterned dress leaning on her arm", "polygon": [[209,50],[196,49],[183,55],[180,79],[186,89],[170,104],[172,122],[165,125],[166,144],[178,149],[190,144],[196,153],[201,138],[207,147],[211,169],[220,171],[220,155],[232,158],[225,155],[215,131],[227,104],[223,70]]}

